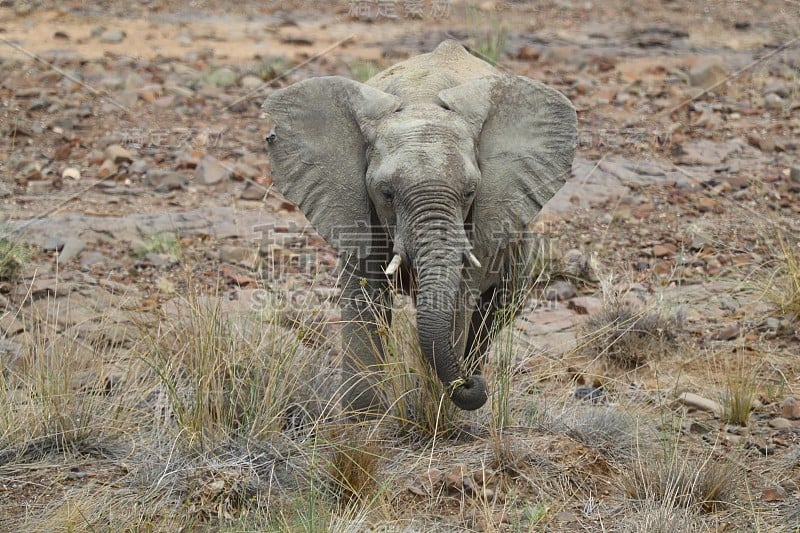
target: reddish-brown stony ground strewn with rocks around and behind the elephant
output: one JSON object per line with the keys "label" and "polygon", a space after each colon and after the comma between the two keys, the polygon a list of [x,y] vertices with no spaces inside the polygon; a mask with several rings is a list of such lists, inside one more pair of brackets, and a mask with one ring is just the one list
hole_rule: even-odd
{"label": "reddish-brown stony ground strewn with rocks around and behind the elephant", "polygon": [[[0,236],[25,256],[0,278],[0,368],[39,322],[129,350],[137,324],[189,290],[240,310],[275,291],[330,303],[335,251],[270,187],[264,96],[505,31],[499,67],[561,90],[580,131],[573,175],[536,224],[570,275],[553,275],[516,324],[514,379],[565,405],[670,413],[699,456],[746,466],[733,507],[754,529],[800,527],[800,319],[776,305],[800,234],[800,7],[536,4],[0,2]],[[635,369],[585,349],[584,324],[615,298],[668,315],[675,349]],[[745,425],[722,419],[734,367],[756,391]],[[586,466],[574,436],[534,440],[552,450],[543,472],[574,456],[595,488],[616,475],[608,458]],[[20,491],[2,468],[7,517],[61,486]],[[398,501],[469,493],[458,468],[421,467]],[[615,529],[608,494],[593,497],[609,514],[567,500],[545,527]],[[459,501],[428,512],[455,516]],[[459,527],[511,530],[511,514]],[[747,521],[725,516],[703,523]]]}

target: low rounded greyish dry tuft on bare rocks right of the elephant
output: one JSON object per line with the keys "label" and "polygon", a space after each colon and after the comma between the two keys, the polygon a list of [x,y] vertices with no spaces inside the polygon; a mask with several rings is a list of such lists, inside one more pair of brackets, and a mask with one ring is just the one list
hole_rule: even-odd
{"label": "low rounded greyish dry tuft on bare rocks right of the elephant", "polygon": [[674,350],[678,321],[663,311],[615,298],[589,316],[581,334],[584,351],[605,355],[623,368],[637,368]]}

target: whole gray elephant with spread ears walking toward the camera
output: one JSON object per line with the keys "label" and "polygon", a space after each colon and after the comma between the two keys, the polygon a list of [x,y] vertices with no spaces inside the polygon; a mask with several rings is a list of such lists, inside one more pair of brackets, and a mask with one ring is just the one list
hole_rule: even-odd
{"label": "whole gray elephant with spread ears walking toward the camera", "polygon": [[445,41],[363,84],[301,81],[264,109],[275,185],[341,254],[345,409],[385,409],[377,319],[391,321],[395,285],[451,400],[480,408],[498,293],[571,170],[572,104]]}

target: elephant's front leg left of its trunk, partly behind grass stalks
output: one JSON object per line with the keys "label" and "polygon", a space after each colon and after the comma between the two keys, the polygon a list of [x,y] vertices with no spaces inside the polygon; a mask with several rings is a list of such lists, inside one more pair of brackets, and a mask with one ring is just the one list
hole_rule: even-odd
{"label": "elephant's front leg left of its trunk, partly behind grass stalks", "polygon": [[386,284],[352,272],[342,292],[343,407],[355,417],[380,415],[385,376],[383,342],[378,328],[391,323],[391,294]]}

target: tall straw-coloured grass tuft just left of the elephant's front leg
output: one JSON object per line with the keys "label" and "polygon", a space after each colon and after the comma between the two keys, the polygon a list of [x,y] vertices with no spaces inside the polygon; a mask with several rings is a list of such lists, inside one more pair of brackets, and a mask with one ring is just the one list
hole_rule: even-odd
{"label": "tall straw-coloured grass tuft just left of the elephant's front leg", "polygon": [[231,439],[302,429],[331,406],[316,393],[323,376],[308,375],[313,353],[280,327],[277,314],[229,317],[221,302],[190,295],[144,333],[142,357],[159,379],[156,393],[200,453]]}

